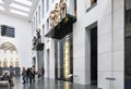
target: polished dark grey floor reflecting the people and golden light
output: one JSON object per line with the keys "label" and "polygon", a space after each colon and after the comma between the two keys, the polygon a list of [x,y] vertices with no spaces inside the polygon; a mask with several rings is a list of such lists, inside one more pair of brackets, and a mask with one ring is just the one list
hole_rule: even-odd
{"label": "polished dark grey floor reflecting the people and golden light", "polygon": [[14,87],[0,87],[0,89],[99,89],[91,86],[71,84],[53,79],[36,79],[36,81],[22,84],[22,78],[14,78]]}

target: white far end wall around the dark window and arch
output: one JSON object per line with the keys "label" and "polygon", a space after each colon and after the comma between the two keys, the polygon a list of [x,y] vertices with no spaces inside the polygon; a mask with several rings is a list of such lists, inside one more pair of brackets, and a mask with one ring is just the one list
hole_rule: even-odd
{"label": "white far end wall around the dark window and arch", "polygon": [[[20,67],[32,66],[32,29],[31,23],[10,15],[0,14],[0,24],[13,26],[15,28],[15,38],[0,37],[0,44],[11,42],[16,47],[17,54],[9,54],[7,58],[14,58],[20,61]],[[2,53],[1,53],[2,54]],[[2,55],[3,56],[3,55]],[[0,59],[3,59],[0,56]]]}

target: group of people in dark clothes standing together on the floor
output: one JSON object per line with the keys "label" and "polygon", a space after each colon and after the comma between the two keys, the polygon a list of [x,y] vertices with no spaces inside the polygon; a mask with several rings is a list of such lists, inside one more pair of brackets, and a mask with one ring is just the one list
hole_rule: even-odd
{"label": "group of people in dark clothes standing together on the floor", "polygon": [[38,78],[41,75],[41,77],[44,78],[44,74],[45,74],[44,67],[41,67],[41,69],[38,69],[37,72],[35,71],[35,66],[28,67],[27,69],[23,67],[22,71],[23,84],[35,81],[35,75],[38,75]]}

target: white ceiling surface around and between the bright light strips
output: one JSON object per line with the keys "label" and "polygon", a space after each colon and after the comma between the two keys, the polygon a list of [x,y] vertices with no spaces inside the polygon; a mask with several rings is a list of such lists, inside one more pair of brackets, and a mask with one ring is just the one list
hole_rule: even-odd
{"label": "white ceiling surface around and between the bright light strips", "polygon": [[[3,3],[1,3],[1,1]],[[32,5],[29,7],[29,5],[26,5],[24,3],[16,2],[16,0],[0,0],[0,7],[3,7],[3,9],[4,9],[4,10],[0,9],[0,13],[1,14],[8,14],[8,15],[11,15],[11,16],[14,16],[14,17],[19,17],[19,18],[24,18],[26,21],[31,21],[32,16],[33,16],[33,13],[34,13],[34,11],[35,11],[35,9],[37,7],[38,0],[26,0],[26,1],[32,2]],[[25,9],[24,8],[16,9],[15,7],[12,8],[11,5],[14,5],[14,4],[22,5]],[[26,10],[26,8],[27,8],[27,10]],[[20,12],[27,13],[28,16],[23,16],[23,15],[20,15],[20,14],[12,13],[13,12],[13,11],[11,12],[12,9],[17,10]],[[24,10],[22,10],[22,9],[24,9]]]}

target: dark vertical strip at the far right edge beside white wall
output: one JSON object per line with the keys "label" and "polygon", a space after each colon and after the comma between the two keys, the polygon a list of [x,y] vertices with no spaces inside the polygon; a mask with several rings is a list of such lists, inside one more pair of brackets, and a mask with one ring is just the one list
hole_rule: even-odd
{"label": "dark vertical strip at the far right edge beside white wall", "polygon": [[124,0],[124,89],[131,89],[131,1]]}

